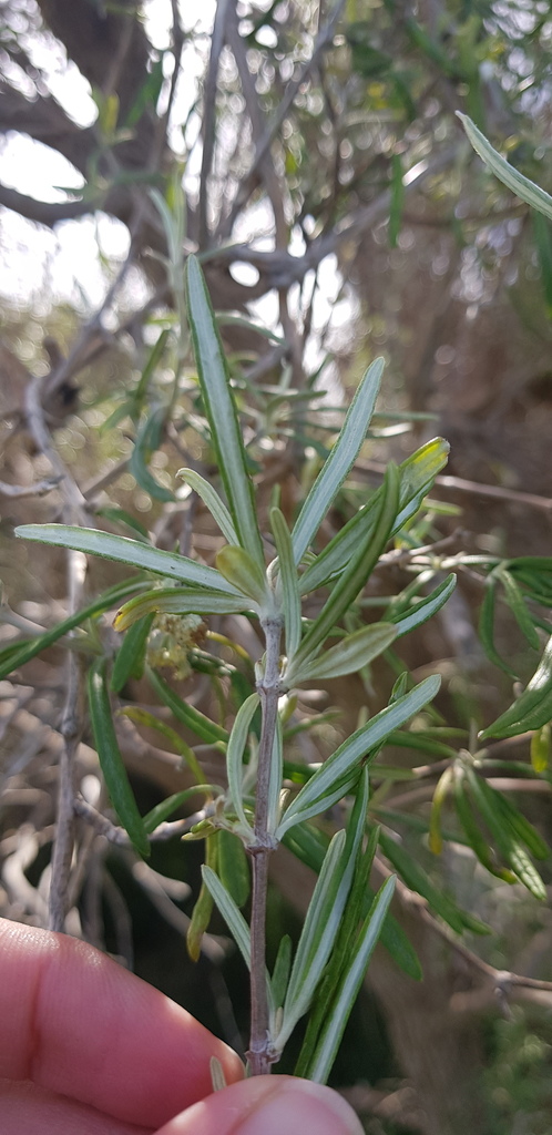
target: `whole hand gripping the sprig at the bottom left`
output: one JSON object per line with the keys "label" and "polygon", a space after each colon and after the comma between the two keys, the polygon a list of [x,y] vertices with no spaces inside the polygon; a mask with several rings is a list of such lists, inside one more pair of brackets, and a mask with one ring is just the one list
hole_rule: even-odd
{"label": "whole hand gripping the sprig at the bottom left", "polygon": [[[212,1093],[209,1060],[231,1085]],[[361,1135],[327,1087],[243,1079],[226,1044],[104,955],[0,919],[1,1135]]]}

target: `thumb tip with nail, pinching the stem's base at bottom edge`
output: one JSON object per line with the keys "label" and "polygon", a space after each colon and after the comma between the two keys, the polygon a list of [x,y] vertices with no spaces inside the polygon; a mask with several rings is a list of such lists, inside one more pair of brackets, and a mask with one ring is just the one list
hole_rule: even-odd
{"label": "thumb tip with nail, pinching the stem's base at bottom edge", "polygon": [[362,1135],[329,1087],[293,1076],[256,1076],[208,1095],[157,1135]]}

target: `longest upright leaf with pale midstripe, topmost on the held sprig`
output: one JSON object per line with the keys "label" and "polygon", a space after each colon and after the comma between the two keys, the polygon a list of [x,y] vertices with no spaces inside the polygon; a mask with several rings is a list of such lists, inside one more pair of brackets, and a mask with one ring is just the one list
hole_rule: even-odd
{"label": "longest upright leaf with pale midstripe, topmost on the held sprig", "polygon": [[248,470],[228,369],[207,285],[195,257],[189,257],[186,261],[186,294],[198,377],[232,518],[240,544],[259,568],[264,569],[253,484]]}

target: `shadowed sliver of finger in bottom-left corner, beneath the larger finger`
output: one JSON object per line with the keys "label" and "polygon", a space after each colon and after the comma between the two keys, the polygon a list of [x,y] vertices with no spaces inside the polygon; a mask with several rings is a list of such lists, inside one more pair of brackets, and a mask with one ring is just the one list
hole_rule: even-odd
{"label": "shadowed sliver of finger in bottom-left corner, beneath the larger finger", "polygon": [[0,1081],[0,1115],[2,1135],[152,1135],[151,1127],[125,1124],[26,1081]]}

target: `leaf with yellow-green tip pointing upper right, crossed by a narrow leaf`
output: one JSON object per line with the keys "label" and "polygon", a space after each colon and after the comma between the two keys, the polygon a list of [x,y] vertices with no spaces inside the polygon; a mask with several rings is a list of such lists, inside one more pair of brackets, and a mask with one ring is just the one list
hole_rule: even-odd
{"label": "leaf with yellow-green tip pointing upper right, crossed by a narrow leaf", "polygon": [[[446,464],[448,454],[448,442],[437,437],[421,446],[399,466],[400,512],[394,520],[391,536],[394,536],[418,511],[435,477]],[[338,575],[356,554],[359,541],[369,540],[370,532],[376,526],[382,494],[383,487],[373,493],[367,504],[359,508],[358,513],[344,524],[337,536],[334,536],[333,540],[310,564],[300,580],[302,595],[324,587],[335,575]]]}

